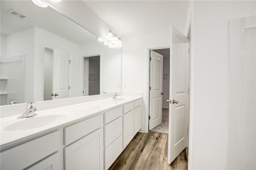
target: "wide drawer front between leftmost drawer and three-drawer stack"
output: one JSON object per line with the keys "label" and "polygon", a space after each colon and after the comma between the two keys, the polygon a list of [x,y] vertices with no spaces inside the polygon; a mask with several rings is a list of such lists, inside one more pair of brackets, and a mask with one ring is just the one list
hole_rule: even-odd
{"label": "wide drawer front between leftmost drawer and three-drawer stack", "polygon": [[68,145],[86,134],[103,126],[103,115],[98,115],[90,119],[78,122],[74,125],[64,128],[64,144]]}

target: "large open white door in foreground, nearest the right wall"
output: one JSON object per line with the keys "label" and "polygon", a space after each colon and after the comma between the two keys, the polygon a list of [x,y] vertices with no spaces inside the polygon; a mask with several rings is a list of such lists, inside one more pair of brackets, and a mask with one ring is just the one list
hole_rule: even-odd
{"label": "large open white door in foreground, nearest the right wall", "polygon": [[188,38],[171,26],[168,163],[186,148],[188,116]]}

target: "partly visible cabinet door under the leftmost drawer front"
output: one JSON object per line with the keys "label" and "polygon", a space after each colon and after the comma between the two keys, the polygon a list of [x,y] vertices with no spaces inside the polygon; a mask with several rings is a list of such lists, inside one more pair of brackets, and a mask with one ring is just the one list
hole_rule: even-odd
{"label": "partly visible cabinet door under the leftmost drawer front", "polygon": [[32,166],[28,170],[59,170],[60,154],[59,152]]}

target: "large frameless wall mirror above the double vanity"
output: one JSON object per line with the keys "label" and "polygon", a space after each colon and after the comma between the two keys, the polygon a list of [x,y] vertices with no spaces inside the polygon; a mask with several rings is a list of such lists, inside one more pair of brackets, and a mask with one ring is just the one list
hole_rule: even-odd
{"label": "large frameless wall mirror above the double vanity", "polygon": [[119,49],[32,0],[0,3],[1,105],[121,91]]}

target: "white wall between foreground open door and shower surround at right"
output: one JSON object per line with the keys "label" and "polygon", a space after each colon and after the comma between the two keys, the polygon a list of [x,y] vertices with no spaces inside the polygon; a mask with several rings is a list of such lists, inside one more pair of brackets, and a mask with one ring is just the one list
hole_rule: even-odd
{"label": "white wall between foreground open door and shower surround at right", "polygon": [[228,20],[255,15],[255,1],[194,1],[189,169],[226,169]]}

